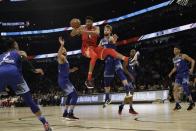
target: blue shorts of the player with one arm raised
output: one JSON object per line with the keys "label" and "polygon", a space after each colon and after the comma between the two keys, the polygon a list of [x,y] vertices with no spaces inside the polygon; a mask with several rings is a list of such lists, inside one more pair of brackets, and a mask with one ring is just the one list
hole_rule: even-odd
{"label": "blue shorts of the player with one arm raised", "polygon": [[69,95],[75,90],[73,84],[70,82],[69,79],[58,78],[58,84],[60,88],[66,93],[66,95]]}

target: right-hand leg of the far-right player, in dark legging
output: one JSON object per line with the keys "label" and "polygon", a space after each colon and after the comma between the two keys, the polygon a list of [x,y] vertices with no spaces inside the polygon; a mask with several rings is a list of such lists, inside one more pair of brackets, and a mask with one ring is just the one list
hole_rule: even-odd
{"label": "right-hand leg of the far-right player, in dark legging", "polygon": [[191,96],[191,91],[189,89],[189,76],[186,75],[183,77],[182,79],[182,87],[183,87],[183,91],[186,93],[186,95],[189,98],[189,107],[187,108],[187,110],[192,110],[195,107],[195,103],[193,102],[192,96]]}

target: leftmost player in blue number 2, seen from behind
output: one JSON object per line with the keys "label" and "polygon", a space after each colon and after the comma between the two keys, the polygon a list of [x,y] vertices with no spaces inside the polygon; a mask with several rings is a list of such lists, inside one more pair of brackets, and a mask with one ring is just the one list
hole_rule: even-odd
{"label": "leftmost player in blue number 2, seen from behind", "polygon": [[[5,40],[5,44],[7,51],[0,55],[0,92],[6,86],[10,86],[43,123],[45,131],[52,131],[39,107],[33,101],[30,89],[22,75],[22,60],[26,59],[27,54],[24,51],[19,51],[17,42],[12,39]],[[38,69],[34,70],[34,73],[43,74],[43,71]]]}

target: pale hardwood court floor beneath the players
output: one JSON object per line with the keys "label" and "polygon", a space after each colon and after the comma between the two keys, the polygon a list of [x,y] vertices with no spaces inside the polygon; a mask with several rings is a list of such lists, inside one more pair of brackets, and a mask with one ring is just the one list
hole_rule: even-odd
{"label": "pale hardwood court floor beneath the players", "polygon": [[[136,104],[140,113],[133,116],[125,107],[122,116],[117,114],[118,105],[103,109],[98,106],[78,106],[78,121],[63,119],[61,107],[42,107],[53,131],[196,131],[196,108],[172,111],[173,104]],[[43,131],[40,122],[28,108],[0,108],[0,131]]]}

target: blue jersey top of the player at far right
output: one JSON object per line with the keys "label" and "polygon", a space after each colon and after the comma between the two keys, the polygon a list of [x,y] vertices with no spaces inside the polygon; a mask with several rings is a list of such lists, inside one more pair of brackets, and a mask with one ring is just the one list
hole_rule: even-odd
{"label": "blue jersey top of the player at far right", "polygon": [[181,55],[176,56],[173,58],[173,63],[176,67],[176,73],[177,74],[183,74],[189,72],[188,63],[186,60],[182,58]]}

